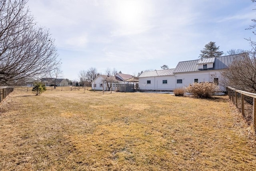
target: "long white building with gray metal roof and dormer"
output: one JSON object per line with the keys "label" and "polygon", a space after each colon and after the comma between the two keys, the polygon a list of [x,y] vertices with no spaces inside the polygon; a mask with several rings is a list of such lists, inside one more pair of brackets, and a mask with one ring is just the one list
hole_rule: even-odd
{"label": "long white building with gray metal roof and dormer", "polygon": [[[215,82],[219,84],[221,72],[234,60],[240,60],[247,54],[236,54],[179,62],[175,69],[143,72],[139,76],[139,88],[142,90],[174,90],[186,87],[194,82]],[[226,87],[220,85],[222,91]]]}

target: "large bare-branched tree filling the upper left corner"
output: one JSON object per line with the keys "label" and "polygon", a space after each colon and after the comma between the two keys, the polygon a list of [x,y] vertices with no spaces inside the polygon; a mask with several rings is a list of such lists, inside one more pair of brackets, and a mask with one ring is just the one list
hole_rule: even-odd
{"label": "large bare-branched tree filling the upper left corner", "polygon": [[49,31],[36,26],[26,3],[0,0],[0,85],[19,85],[60,64]]}

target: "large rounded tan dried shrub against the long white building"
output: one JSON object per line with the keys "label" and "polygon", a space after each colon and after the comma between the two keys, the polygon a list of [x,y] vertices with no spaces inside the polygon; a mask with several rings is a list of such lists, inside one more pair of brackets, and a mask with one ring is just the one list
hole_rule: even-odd
{"label": "large rounded tan dried shrub against the long white building", "polygon": [[191,93],[196,98],[210,98],[217,91],[218,86],[209,82],[193,83],[186,87],[186,92]]}

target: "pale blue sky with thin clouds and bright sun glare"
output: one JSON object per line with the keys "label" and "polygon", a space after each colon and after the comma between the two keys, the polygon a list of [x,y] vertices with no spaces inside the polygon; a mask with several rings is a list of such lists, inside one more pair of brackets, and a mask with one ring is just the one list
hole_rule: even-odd
{"label": "pale blue sky with thin clouds and bright sun glare", "polygon": [[49,29],[62,78],[115,68],[137,75],[196,60],[210,41],[220,51],[250,50],[244,38],[256,18],[251,0],[28,0],[37,25]]}

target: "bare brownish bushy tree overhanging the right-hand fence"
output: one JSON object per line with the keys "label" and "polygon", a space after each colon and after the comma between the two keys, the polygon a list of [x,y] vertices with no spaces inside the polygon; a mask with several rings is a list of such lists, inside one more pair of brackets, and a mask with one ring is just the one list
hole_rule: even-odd
{"label": "bare brownish bushy tree overhanging the right-hand fence", "polygon": [[256,91],[256,51],[244,54],[222,72],[226,85],[237,89]]}

